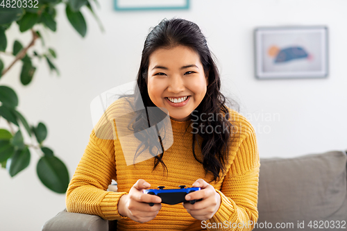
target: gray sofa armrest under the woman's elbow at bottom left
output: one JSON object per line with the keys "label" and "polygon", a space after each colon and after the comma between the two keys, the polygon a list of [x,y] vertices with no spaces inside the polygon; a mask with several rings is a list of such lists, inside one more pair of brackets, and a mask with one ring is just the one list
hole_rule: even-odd
{"label": "gray sofa armrest under the woman's elbow at bottom left", "polygon": [[100,216],[67,212],[64,209],[44,223],[42,231],[108,231],[113,222]]}

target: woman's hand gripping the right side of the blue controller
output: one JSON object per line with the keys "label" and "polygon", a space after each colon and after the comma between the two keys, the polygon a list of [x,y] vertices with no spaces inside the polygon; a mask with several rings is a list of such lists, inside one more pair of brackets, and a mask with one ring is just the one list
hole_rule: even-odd
{"label": "woman's hand gripping the right side of the blue controller", "polygon": [[194,203],[194,205],[191,205],[189,202],[183,203],[183,207],[187,209],[187,212],[194,219],[201,221],[211,219],[219,209],[219,205],[221,205],[221,195],[217,193],[212,185],[203,179],[196,180],[192,186],[200,187],[201,190],[187,194],[185,200],[198,200],[201,198],[203,200]]}

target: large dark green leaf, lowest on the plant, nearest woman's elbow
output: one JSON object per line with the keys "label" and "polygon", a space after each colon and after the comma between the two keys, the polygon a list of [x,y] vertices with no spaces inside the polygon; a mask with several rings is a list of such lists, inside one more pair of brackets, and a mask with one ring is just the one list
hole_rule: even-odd
{"label": "large dark green leaf, lowest on the plant, nearest woman's elbow", "polygon": [[69,186],[69,172],[58,157],[41,157],[37,163],[36,171],[37,176],[46,187],[58,194],[65,194]]}

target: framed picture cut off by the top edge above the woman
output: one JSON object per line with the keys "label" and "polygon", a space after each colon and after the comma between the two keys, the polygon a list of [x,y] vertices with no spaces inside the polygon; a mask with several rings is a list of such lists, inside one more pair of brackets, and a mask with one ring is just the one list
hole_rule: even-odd
{"label": "framed picture cut off by the top edge above the woman", "polygon": [[114,0],[115,10],[187,10],[189,0]]}

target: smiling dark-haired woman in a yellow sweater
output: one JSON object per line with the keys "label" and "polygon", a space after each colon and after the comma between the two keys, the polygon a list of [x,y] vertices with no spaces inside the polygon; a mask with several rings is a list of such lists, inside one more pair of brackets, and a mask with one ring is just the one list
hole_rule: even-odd
{"label": "smiling dark-haired woman in a yellow sweater", "polygon": [[[100,126],[90,135],[69,184],[68,211],[117,220],[117,230],[216,230],[211,223],[245,223],[243,230],[252,230],[260,167],[255,132],[226,107],[220,88],[200,28],[185,19],[162,20],[144,42],[135,94],[106,110],[99,123],[112,128]],[[169,125],[162,123],[167,113]],[[139,142],[121,146],[127,136],[119,121],[128,117],[125,127]],[[199,129],[192,129],[193,122]],[[128,146],[135,146],[133,164],[126,161]],[[112,179],[117,192],[106,191]],[[183,195],[183,204],[172,205],[144,193],[160,185],[197,189]]]}

